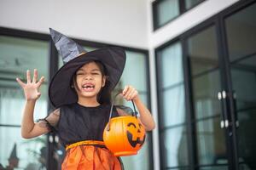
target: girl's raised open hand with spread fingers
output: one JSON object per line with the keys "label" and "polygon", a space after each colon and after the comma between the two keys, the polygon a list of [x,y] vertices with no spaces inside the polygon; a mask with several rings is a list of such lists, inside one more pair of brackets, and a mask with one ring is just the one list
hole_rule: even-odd
{"label": "girl's raised open hand with spread fingers", "polygon": [[[24,90],[26,100],[36,100],[40,97],[39,88],[44,82],[44,77],[41,77],[38,81],[38,70],[34,69],[34,76],[31,79],[30,71],[26,71],[26,83],[22,82],[20,78],[16,78],[16,81],[20,84]],[[38,81],[38,82],[37,82]]]}

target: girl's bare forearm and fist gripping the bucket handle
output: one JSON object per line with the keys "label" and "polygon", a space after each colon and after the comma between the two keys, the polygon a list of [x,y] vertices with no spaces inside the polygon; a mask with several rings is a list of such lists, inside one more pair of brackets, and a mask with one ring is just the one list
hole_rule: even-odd
{"label": "girl's bare forearm and fist gripping the bucket handle", "polygon": [[137,90],[132,86],[125,86],[122,95],[127,101],[131,99],[134,101],[140,113],[140,121],[143,123],[145,129],[147,131],[153,130],[155,127],[154,119],[150,111],[148,111],[148,108],[143,104],[143,101],[139,98]]}

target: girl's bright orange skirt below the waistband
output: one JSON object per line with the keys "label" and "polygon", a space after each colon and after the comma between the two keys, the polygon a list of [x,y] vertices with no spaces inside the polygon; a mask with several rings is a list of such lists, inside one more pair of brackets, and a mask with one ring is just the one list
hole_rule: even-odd
{"label": "girl's bright orange skirt below the waistband", "polygon": [[121,170],[122,165],[109,150],[94,145],[79,145],[67,150],[61,170]]}

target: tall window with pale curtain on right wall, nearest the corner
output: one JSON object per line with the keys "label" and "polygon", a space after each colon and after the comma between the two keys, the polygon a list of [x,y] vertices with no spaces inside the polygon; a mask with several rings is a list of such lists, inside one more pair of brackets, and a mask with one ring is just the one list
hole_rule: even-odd
{"label": "tall window with pale curtain on right wall, nearest the corner", "polygon": [[180,42],[157,50],[161,169],[189,165]]}

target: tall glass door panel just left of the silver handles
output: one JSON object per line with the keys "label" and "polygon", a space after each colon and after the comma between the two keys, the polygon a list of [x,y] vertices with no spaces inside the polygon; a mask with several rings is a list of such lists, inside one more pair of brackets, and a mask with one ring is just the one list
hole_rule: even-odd
{"label": "tall glass door panel just left of the silver handles", "polygon": [[[218,94],[224,89],[216,26],[205,26],[187,39],[195,129],[196,169],[228,169],[225,110]],[[220,94],[222,97],[222,94]]]}

